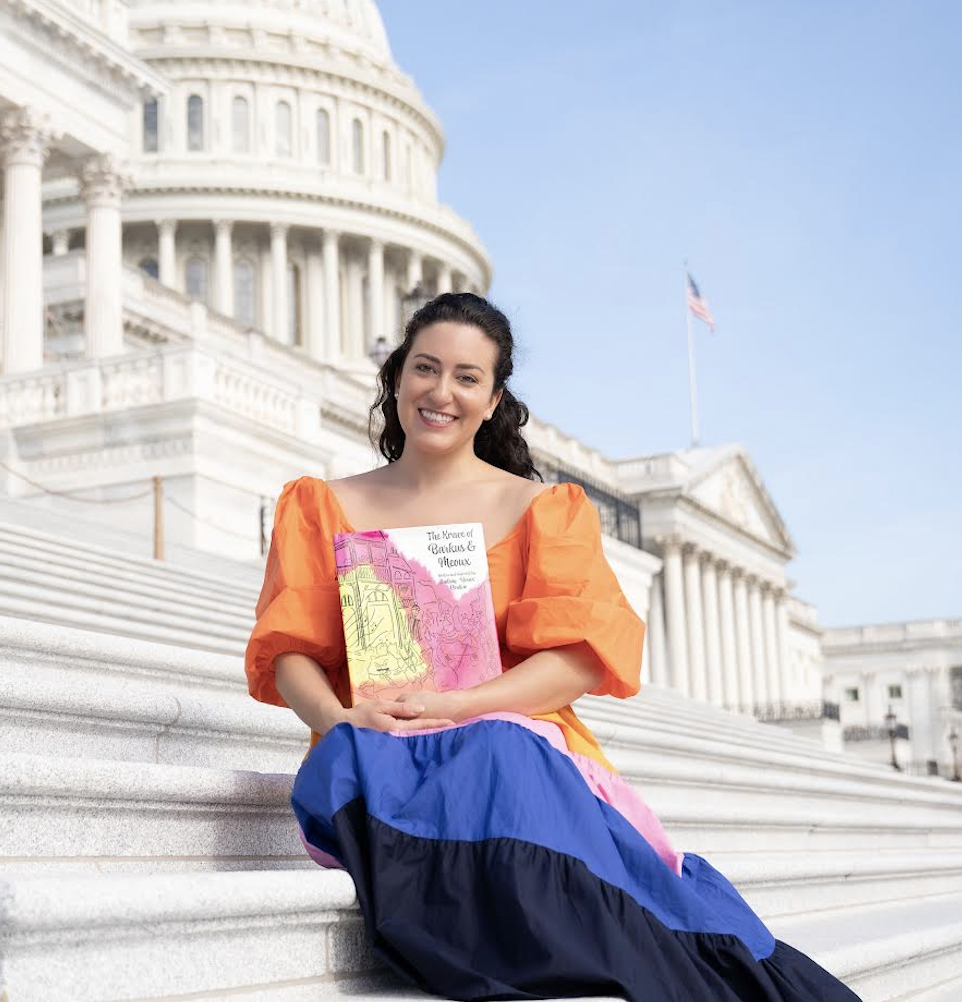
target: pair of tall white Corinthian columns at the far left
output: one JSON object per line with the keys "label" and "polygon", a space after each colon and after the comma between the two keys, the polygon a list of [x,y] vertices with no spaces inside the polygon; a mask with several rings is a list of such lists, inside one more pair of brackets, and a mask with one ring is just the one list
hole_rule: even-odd
{"label": "pair of tall white Corinthian columns at the far left", "polygon": [[[28,372],[43,365],[41,181],[43,165],[57,139],[30,108],[9,108],[0,117],[0,362],[4,374]],[[86,205],[86,354],[100,358],[123,347],[120,200],[128,177],[109,153],[78,161],[77,176]],[[54,249],[66,253],[65,234],[55,235]]]}

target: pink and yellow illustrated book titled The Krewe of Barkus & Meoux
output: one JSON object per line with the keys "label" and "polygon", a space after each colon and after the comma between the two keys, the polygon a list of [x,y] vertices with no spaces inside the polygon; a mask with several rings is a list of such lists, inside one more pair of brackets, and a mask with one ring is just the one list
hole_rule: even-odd
{"label": "pink and yellow illustrated book titled The Krewe of Barkus & Meoux", "polygon": [[480,522],[336,532],[352,705],[502,671]]}

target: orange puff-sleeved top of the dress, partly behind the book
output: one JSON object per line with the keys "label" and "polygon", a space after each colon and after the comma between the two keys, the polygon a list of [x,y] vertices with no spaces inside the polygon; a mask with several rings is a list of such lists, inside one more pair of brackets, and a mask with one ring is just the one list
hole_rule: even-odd
{"label": "orange puff-sleeved top of the dress, partly behind the book", "polygon": [[[287,705],[274,660],[297,651],[314,658],[342,705],[351,705],[333,535],[352,531],[323,480],[301,477],[285,485],[245,659],[256,699]],[[638,691],[644,622],[605,559],[598,511],[580,485],[553,484],[537,494],[487,557],[505,670],[535,651],[578,644],[603,668],[592,695],[623,699]],[[532,715],[556,723],[571,752],[613,772],[570,706]],[[310,747],[319,740],[312,731]]]}

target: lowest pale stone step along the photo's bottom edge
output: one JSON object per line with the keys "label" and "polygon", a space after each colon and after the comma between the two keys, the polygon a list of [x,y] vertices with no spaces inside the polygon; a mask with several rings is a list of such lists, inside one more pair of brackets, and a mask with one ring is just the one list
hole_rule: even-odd
{"label": "lowest pale stone step along the photo's bottom edge", "polygon": [[[17,1002],[436,998],[379,969],[344,873],[0,878],[0,899]],[[962,974],[958,894],[770,926],[864,1002],[921,1002]]]}

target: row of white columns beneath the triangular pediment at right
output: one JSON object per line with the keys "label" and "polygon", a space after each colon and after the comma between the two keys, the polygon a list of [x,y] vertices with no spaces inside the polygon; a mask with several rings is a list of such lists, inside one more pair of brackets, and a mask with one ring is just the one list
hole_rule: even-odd
{"label": "row of white columns beneath the triangular pediment at right", "polygon": [[651,680],[718,706],[792,698],[788,593],[693,543],[661,538],[648,613]]}

